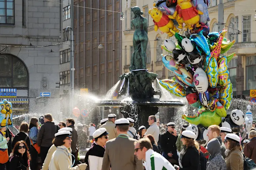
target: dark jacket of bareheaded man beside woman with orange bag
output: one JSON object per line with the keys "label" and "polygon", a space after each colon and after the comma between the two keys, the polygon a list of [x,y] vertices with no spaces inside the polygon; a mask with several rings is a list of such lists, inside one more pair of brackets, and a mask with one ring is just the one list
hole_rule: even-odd
{"label": "dark jacket of bareheaded man beside woman with orange bag", "polygon": [[54,122],[45,122],[37,134],[37,145],[42,147],[51,147],[52,140],[55,138],[59,127]]}

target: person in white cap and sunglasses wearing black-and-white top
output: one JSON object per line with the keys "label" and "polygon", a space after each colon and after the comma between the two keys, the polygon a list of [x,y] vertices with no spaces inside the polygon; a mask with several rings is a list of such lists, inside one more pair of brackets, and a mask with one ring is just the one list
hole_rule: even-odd
{"label": "person in white cap and sunglasses wearing black-and-white top", "polygon": [[92,147],[86,153],[85,163],[92,170],[101,170],[103,156],[105,153],[106,142],[108,141],[108,132],[106,128],[97,129],[93,133],[95,141]]}

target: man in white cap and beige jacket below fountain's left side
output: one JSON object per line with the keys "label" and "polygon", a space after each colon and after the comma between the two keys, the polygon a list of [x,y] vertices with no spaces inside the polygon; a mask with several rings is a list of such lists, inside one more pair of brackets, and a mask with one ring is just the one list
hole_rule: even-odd
{"label": "man in white cap and beige jacket below fountain's left side", "polygon": [[108,134],[108,139],[114,139],[117,137],[117,129],[115,125],[115,120],[116,120],[117,115],[115,114],[109,114],[108,115],[108,121],[101,125],[101,128],[106,128]]}

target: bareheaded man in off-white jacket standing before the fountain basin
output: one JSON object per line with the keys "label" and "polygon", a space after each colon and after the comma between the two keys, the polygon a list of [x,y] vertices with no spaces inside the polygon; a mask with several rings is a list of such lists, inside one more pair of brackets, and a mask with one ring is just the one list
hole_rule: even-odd
{"label": "bareheaded man in off-white jacket standing before the fountain basin", "polygon": [[[149,128],[147,129],[147,132],[145,133],[145,136],[147,135],[153,135],[155,138],[156,143],[158,143],[159,140],[159,134],[160,134],[160,129],[156,124],[156,117],[154,115],[151,115],[148,117],[148,124],[150,125]],[[144,136],[144,138],[145,138]]]}

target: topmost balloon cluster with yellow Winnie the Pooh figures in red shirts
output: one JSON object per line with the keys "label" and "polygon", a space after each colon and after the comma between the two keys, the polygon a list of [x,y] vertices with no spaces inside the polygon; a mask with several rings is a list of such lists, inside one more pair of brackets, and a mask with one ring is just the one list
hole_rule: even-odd
{"label": "topmost balloon cluster with yellow Winnie the Pooh figures in red shirts", "polygon": [[[149,14],[155,23],[154,30],[173,36],[172,30],[188,28],[191,33],[204,30],[209,33],[209,0],[158,0]],[[171,30],[171,31],[170,31]]]}

